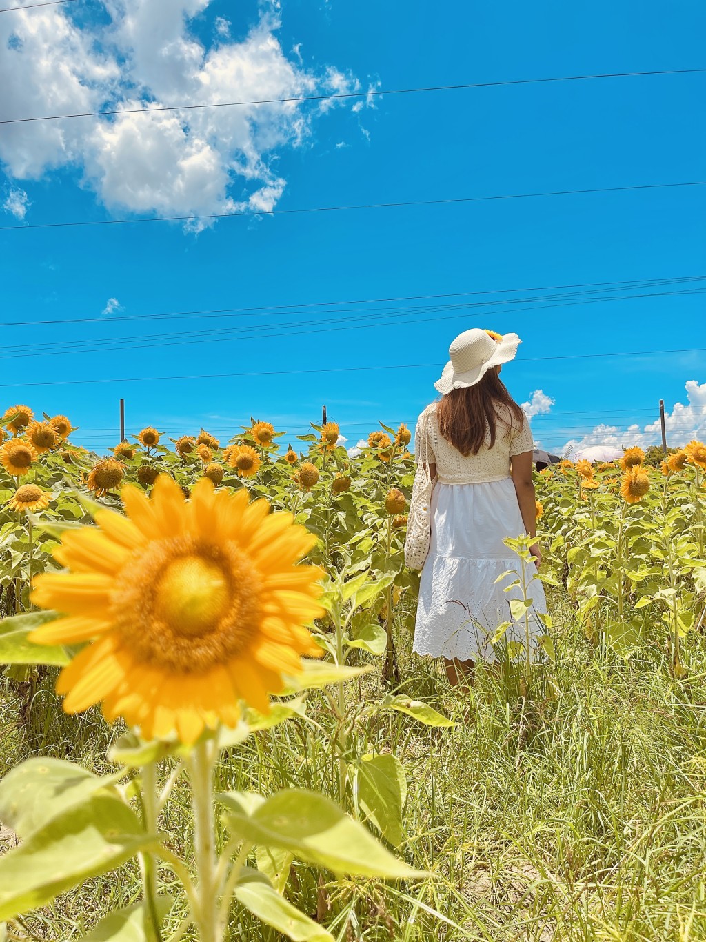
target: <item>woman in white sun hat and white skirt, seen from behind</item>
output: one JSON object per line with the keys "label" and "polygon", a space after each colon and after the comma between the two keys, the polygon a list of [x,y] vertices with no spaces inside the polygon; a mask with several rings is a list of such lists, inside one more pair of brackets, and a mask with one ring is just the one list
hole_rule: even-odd
{"label": "woman in white sun hat and white skirt, seen from behind", "polygon": [[[516,333],[459,334],[435,383],[441,400],[427,406],[417,423],[415,459],[436,480],[414,650],[444,658],[452,684],[469,674],[478,658],[496,658],[490,639],[512,620],[509,600],[522,597],[519,586],[509,592],[503,587],[523,566],[533,601],[533,642],[543,633],[538,614],[546,611],[546,602],[535,570],[539,547],[531,548],[535,566],[530,566],[503,543],[537,534],[532,433],[499,376],[520,343]],[[505,632],[505,641],[524,644],[525,638],[524,619]]]}

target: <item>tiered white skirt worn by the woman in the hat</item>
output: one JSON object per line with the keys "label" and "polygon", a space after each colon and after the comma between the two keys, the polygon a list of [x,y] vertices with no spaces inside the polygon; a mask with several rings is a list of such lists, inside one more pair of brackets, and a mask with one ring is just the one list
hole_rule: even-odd
{"label": "tiered white skirt worn by the woman in the hat", "polygon": [[[490,639],[512,622],[508,602],[521,587],[503,587],[521,575],[528,583],[531,657],[546,634],[538,619],[546,612],[544,587],[534,563],[524,563],[503,540],[525,532],[512,479],[479,484],[437,483],[431,495],[431,543],[422,570],[414,650],[432,658],[493,661],[500,654]],[[495,579],[512,570],[515,575]],[[505,642],[526,641],[524,619],[513,622]]]}

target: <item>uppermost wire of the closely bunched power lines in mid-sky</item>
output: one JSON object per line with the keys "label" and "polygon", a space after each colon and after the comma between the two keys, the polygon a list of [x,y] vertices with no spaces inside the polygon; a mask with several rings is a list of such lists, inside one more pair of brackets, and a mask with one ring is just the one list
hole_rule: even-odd
{"label": "uppermost wire of the closely bunched power lines in mid-sky", "polygon": [[[144,315],[123,315],[121,314],[119,318],[108,318],[106,317],[67,317],[60,320],[15,320],[15,321],[5,321],[0,322],[0,328],[2,327],[23,327],[35,326],[35,325],[44,325],[44,324],[105,324],[110,322],[110,319],[115,319],[120,323],[125,321],[132,320],[162,320],[170,319],[172,317],[226,317],[231,314],[258,314],[263,313],[267,315],[279,315],[280,317],[287,314],[296,313],[292,309],[301,308],[301,309],[310,309],[310,308],[321,308],[321,307],[338,307],[342,305],[350,304],[382,304],[390,303],[392,301],[398,300],[436,300],[442,298],[470,298],[470,297],[479,297],[487,295],[497,295],[497,294],[520,294],[522,292],[529,291],[560,291],[569,288],[595,288],[595,292],[591,293],[600,293],[601,290],[625,290],[628,287],[640,286],[640,287],[657,287],[668,284],[682,284],[689,282],[700,282],[706,281],[706,275],[683,275],[683,276],[670,276],[667,278],[637,278],[632,281],[621,281],[621,282],[584,282],[581,284],[540,284],[532,287],[522,287],[522,288],[493,288],[490,291],[457,291],[453,293],[446,294],[428,294],[428,295],[399,295],[391,298],[357,298],[353,300],[327,300],[327,301],[313,301],[313,302],[292,302],[289,304],[270,304],[265,306],[253,306],[253,307],[222,307],[222,308],[206,308],[201,310],[194,311],[172,311],[165,312],[162,314],[144,314]],[[589,292],[582,292],[589,293]],[[561,296],[548,296],[548,297],[561,297]],[[481,303],[486,306],[492,304],[515,304],[521,303],[522,300],[536,300],[536,299],[505,299],[501,301],[479,301],[477,306]],[[448,307],[452,305],[447,305]],[[472,306],[469,304],[468,306]],[[439,308],[441,310],[441,307]],[[366,310],[363,308],[362,310]],[[298,313],[298,312],[297,312]],[[327,312],[327,313],[337,313]]]}

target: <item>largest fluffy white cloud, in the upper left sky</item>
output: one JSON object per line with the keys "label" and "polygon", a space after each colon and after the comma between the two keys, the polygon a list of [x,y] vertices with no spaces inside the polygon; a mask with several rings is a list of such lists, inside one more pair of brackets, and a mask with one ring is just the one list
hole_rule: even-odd
{"label": "largest fluffy white cloud, in the upper left sky", "polygon": [[[7,118],[101,109],[140,110],[293,98],[360,89],[334,66],[314,72],[298,47],[278,38],[275,2],[263,3],[249,33],[233,41],[217,17],[204,46],[189,29],[212,0],[104,0],[111,23],[76,25],[63,8],[18,10],[0,18],[0,88]],[[313,134],[334,105],[287,102],[198,108],[150,116],[10,124],[0,161],[15,180],[78,168],[111,210],[186,216],[271,210],[285,181],[283,148]],[[201,226],[195,225],[198,229]]]}

